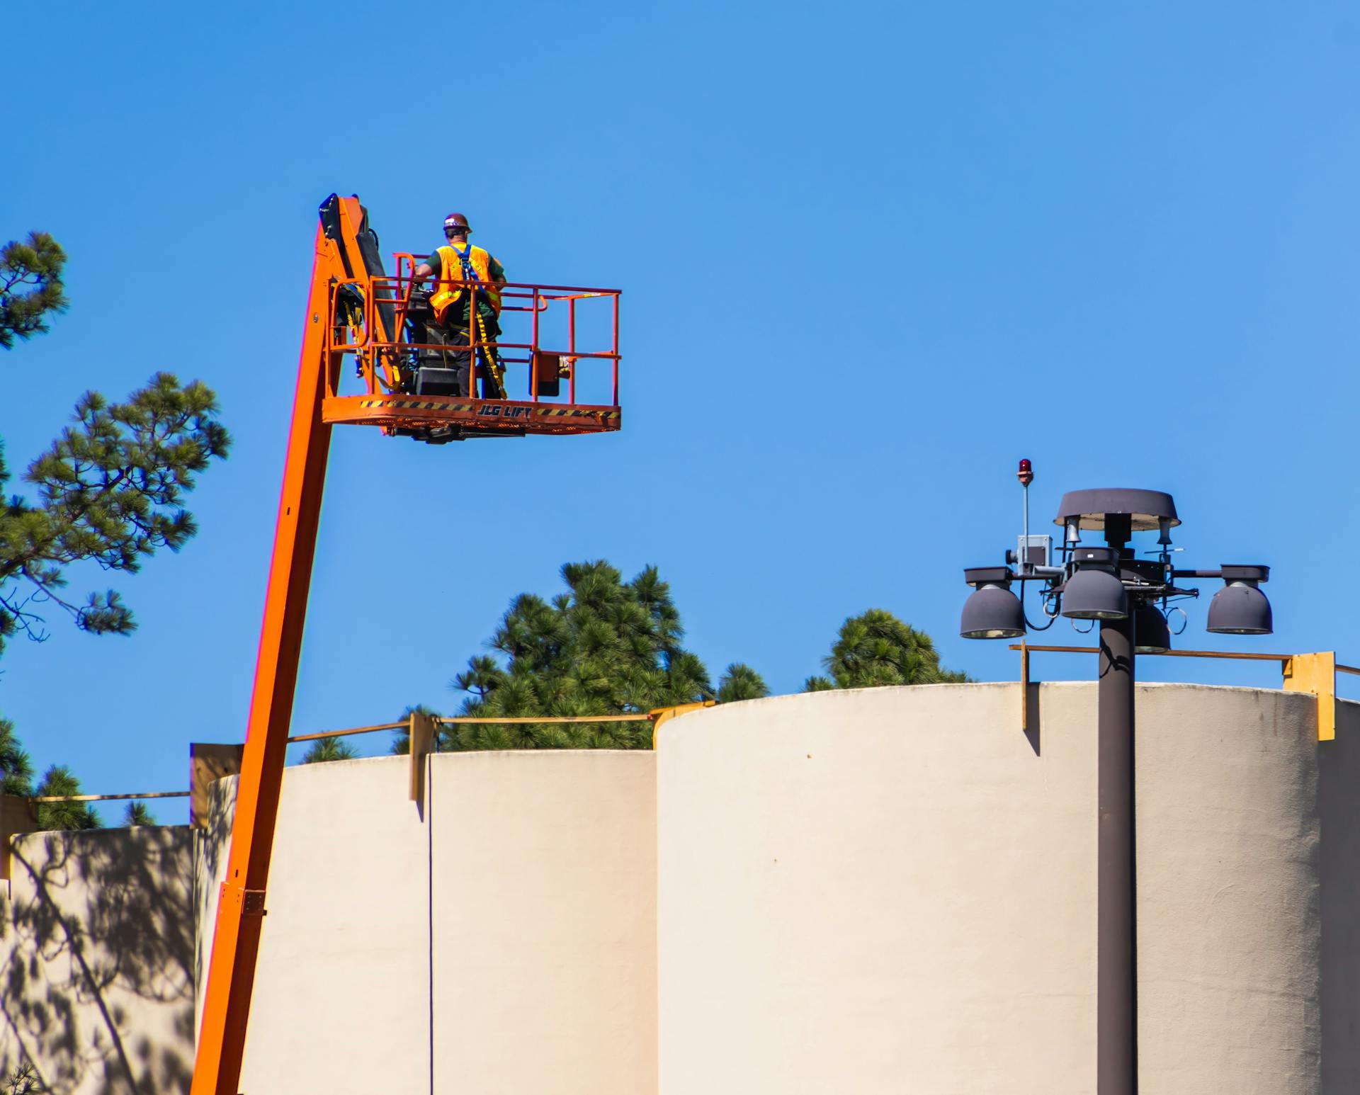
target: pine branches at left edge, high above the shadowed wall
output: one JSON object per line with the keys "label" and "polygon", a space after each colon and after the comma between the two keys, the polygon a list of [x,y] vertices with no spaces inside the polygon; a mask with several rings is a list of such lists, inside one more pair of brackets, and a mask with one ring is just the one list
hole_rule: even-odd
{"label": "pine branches at left edge, high above the shadowed wall", "polygon": [[[64,263],[44,233],[0,249],[0,347],[46,331],[46,317],[65,309]],[[156,373],[125,403],[86,392],[73,423],[24,473],[37,499],[0,501],[0,650],[16,631],[46,638],[49,607],[84,631],[135,630],[132,611],[112,589],[68,600],[65,567],[90,560],[133,573],[158,548],[178,551],[196,532],[184,495],[230,445],[216,396],[199,381],[181,385]],[[10,479],[0,446],[0,488]]]}

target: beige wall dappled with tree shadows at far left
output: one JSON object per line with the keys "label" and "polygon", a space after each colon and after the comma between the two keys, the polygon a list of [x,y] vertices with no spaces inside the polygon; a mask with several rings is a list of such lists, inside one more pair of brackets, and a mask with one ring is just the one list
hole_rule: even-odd
{"label": "beige wall dappled with tree shadows at far left", "polygon": [[193,856],[184,827],[14,841],[0,906],[0,1069],[56,1095],[188,1092]]}

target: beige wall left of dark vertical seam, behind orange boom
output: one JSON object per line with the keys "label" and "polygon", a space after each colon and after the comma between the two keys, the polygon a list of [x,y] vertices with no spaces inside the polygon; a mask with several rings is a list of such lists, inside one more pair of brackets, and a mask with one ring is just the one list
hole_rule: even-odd
{"label": "beige wall left of dark vertical seam, behind orange boom", "polygon": [[[284,773],[246,1095],[430,1091],[428,856],[407,773],[397,756]],[[214,819],[230,823],[222,800],[235,784],[214,785]],[[204,971],[226,858],[224,841],[205,841],[214,880],[200,891]]]}

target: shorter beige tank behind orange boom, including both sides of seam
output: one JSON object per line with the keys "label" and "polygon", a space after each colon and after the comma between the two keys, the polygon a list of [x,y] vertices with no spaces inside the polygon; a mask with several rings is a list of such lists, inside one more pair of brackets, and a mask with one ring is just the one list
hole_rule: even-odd
{"label": "shorter beige tank behind orange boom, including both sides of seam", "polygon": [[654,1092],[653,755],[430,766],[427,822],[407,758],[287,770],[242,1091]]}

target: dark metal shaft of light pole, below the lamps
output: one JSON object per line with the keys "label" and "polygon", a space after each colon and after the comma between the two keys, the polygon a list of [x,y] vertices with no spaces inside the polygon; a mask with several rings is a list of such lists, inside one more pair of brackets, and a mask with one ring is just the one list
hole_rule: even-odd
{"label": "dark metal shaft of light pole, below the lamps", "polygon": [[[1106,539],[1123,547],[1129,533]],[[1127,518],[1125,518],[1127,520]],[[1122,537],[1122,539],[1121,539]],[[1100,622],[1096,809],[1096,1095],[1137,1095],[1138,1007],[1134,958],[1133,607]]]}

